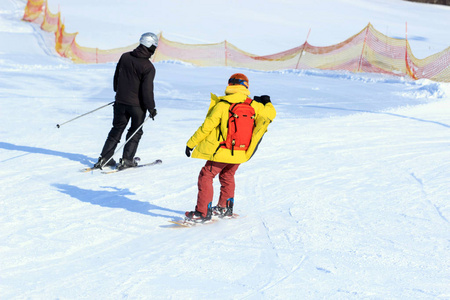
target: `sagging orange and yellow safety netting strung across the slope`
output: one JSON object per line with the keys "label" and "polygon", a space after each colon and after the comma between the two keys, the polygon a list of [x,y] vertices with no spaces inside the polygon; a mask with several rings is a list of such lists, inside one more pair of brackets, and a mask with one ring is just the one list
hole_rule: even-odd
{"label": "sagging orange and yellow safety netting strung across the slope", "polygon": [[[67,33],[58,12],[49,11],[47,0],[28,0],[23,20],[55,33],[55,49],[75,63],[117,62],[122,53],[138,44],[100,50],[78,45],[78,33]],[[383,73],[450,82],[450,47],[425,59],[414,57],[408,39],[388,37],[370,23],[359,33],[332,46],[316,47],[307,41],[280,53],[257,56],[224,41],[216,44],[183,44],[159,34],[154,62],[179,60],[196,66],[230,66],[263,71],[283,69],[346,70]]]}

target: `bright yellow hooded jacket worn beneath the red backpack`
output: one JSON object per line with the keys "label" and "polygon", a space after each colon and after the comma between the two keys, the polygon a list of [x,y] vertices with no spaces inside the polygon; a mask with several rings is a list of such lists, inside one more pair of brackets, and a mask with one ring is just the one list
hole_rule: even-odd
{"label": "bright yellow hooded jacket worn beneath the red backpack", "polygon": [[[187,142],[187,146],[194,149],[193,158],[201,158],[216,162],[241,164],[249,160],[259,145],[267,127],[276,116],[272,103],[266,105],[253,101],[251,106],[255,109],[255,128],[252,141],[247,150],[231,150],[219,148],[228,133],[228,110],[230,103],[242,103],[250,95],[250,91],[242,85],[230,85],[225,90],[225,96],[217,97],[211,93],[211,104],[205,121]],[[222,101],[224,100],[224,101]],[[225,102],[226,101],[226,102]],[[222,135],[220,134],[222,132]]]}

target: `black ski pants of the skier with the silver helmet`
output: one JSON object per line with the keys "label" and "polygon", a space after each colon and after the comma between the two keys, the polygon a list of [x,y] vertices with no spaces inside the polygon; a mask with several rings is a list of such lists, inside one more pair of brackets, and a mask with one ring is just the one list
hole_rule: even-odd
{"label": "black ski pants of the skier with the silver helmet", "polygon": [[[130,136],[144,122],[145,110],[143,110],[139,106],[114,103],[113,127],[111,128],[108,134],[108,138],[106,139],[102,153],[100,154],[101,157],[105,159],[105,161],[108,160],[114,154],[117,144],[120,142],[122,133],[127,127],[130,118],[131,118],[131,126],[128,129],[126,140],[128,140]],[[142,130],[141,127],[139,131],[137,131],[136,134],[131,138],[131,140],[124,146],[122,158],[133,160],[143,133],[144,131]]]}

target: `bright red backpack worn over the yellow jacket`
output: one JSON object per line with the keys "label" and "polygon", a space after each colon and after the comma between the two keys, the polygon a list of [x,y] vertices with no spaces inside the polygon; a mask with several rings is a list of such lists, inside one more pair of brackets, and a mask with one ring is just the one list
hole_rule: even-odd
{"label": "bright red backpack worn over the yellow jacket", "polygon": [[230,105],[228,117],[228,134],[221,148],[231,150],[247,150],[252,140],[253,128],[255,126],[255,109],[250,105],[251,98],[247,98],[243,103],[233,103]]}

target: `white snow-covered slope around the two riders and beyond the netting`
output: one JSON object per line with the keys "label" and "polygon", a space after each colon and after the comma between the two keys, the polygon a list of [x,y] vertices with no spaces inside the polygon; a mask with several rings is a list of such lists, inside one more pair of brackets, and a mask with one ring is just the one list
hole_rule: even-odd
{"label": "white snow-covered slope around the two riders and beyond the netting", "polygon": [[[81,45],[124,46],[147,31],[147,19],[121,13],[130,9],[121,1],[49,1],[60,4],[68,31],[86,38]],[[342,22],[345,36],[335,42],[371,21],[361,15],[379,12],[381,22],[387,2],[393,20],[410,17],[414,24],[420,16],[411,27],[425,37],[416,44],[422,53],[450,44],[441,28],[448,8],[382,0],[339,1],[358,8],[361,26]],[[133,3],[148,7],[146,1]],[[288,14],[284,23],[305,31],[292,8],[315,11],[306,2],[264,3],[261,10],[248,4],[236,9],[235,18],[251,16],[258,23],[254,44],[247,32],[235,31],[232,42],[244,50],[263,44],[267,32],[272,36],[277,22],[266,17],[270,5]],[[59,129],[56,124],[112,101],[115,64],[73,65],[54,56],[51,36],[20,21],[24,5],[0,4],[2,299],[450,298],[449,84],[156,64],[158,116],[145,124],[138,156],[163,164],[81,173],[99,155],[111,107]],[[115,18],[98,19],[91,8]],[[346,16],[329,9],[328,16]],[[214,19],[221,10],[174,11],[189,11],[196,20],[196,13],[206,18],[207,11]],[[117,25],[116,18],[128,25],[114,28],[121,43],[111,45],[97,32],[107,32],[107,22]],[[183,24],[158,21],[169,38],[188,36]],[[392,28],[391,22],[379,26]],[[404,20],[396,22],[397,28]],[[192,26],[189,32],[206,41],[228,39],[214,27]],[[320,36],[315,44],[334,42],[335,36]],[[295,45],[285,37],[267,50]],[[237,172],[236,212],[244,218],[173,229],[167,221],[195,206],[204,164],[185,157],[185,143],[203,121],[209,93],[222,94],[237,71],[250,78],[252,95],[271,95],[278,112],[258,152]]]}

